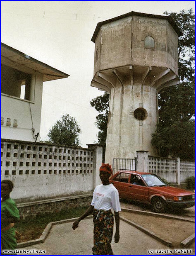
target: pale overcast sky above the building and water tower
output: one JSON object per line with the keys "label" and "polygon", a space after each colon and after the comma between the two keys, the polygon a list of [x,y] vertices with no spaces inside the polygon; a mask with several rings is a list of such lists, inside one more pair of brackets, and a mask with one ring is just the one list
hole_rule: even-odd
{"label": "pale overcast sky above the building and water tower", "polygon": [[42,140],[66,113],[82,129],[82,146],[97,141],[98,112],[90,100],[103,94],[90,86],[98,22],[127,12],[195,10],[195,1],[1,1],[1,42],[67,74],[69,78],[43,83]]}

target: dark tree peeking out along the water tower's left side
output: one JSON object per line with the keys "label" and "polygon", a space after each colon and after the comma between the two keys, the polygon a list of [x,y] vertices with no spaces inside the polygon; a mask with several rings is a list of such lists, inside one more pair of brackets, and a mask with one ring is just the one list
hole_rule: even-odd
{"label": "dark tree peeking out along the water tower's left side", "polygon": [[96,116],[96,127],[100,129],[98,132],[98,143],[103,146],[103,163],[105,161],[105,145],[107,137],[108,125],[108,109],[109,109],[109,94],[104,93],[90,102],[91,107],[94,107],[100,114]]}

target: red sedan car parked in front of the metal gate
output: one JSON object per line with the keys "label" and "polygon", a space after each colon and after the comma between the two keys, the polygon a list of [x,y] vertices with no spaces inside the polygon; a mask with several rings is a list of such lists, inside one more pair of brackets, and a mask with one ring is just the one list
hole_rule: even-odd
{"label": "red sedan car parked in front of the metal gate", "polygon": [[166,206],[188,208],[195,205],[195,194],[166,185],[152,173],[119,171],[110,177],[120,198],[151,204],[154,212],[164,212]]}

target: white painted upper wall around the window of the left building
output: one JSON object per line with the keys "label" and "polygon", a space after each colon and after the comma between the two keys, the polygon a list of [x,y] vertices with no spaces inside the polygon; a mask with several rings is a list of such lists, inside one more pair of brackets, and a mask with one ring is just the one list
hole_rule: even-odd
{"label": "white painted upper wall around the window of the left building", "polygon": [[[1,93],[1,117],[4,120],[1,125],[2,139],[35,141],[32,127],[35,129],[34,135],[40,133],[43,74],[37,72],[36,75],[33,75],[32,89],[34,89],[34,93],[32,92],[31,95],[34,94],[34,97],[31,96],[32,101],[30,102]],[[11,119],[10,127],[6,125],[7,118]],[[17,120],[17,127],[13,127],[14,119]],[[39,137],[37,141],[39,141]]]}

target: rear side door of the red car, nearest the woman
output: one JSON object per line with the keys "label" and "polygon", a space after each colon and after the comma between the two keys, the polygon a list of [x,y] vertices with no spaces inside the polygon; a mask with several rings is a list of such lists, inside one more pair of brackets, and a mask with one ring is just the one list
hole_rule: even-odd
{"label": "rear side door of the red car, nearest the woman", "polygon": [[130,173],[120,173],[111,183],[117,188],[120,198],[127,199],[129,197]]}

